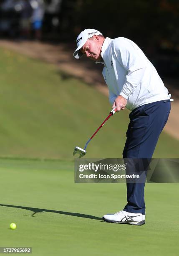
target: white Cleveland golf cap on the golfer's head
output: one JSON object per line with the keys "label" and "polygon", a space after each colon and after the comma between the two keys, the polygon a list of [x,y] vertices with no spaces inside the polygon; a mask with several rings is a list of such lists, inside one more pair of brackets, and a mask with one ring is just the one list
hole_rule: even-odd
{"label": "white Cleveland golf cap on the golfer's head", "polygon": [[83,47],[83,45],[86,43],[86,41],[88,40],[88,38],[90,38],[93,35],[102,35],[101,32],[99,32],[96,29],[91,29],[91,28],[86,28],[85,30],[83,30],[79,36],[76,39],[76,43],[77,43],[77,49],[74,51],[73,56],[76,59],[81,58],[81,56],[83,56],[82,52],[80,51],[81,47]]}

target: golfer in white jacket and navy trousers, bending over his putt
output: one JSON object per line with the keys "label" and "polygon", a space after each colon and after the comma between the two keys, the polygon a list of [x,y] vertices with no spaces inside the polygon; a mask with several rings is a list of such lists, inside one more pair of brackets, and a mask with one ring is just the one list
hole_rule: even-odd
{"label": "golfer in white jacket and navy trousers, bending over his putt", "polygon": [[[77,37],[76,59],[85,55],[101,63],[109,90],[109,101],[117,112],[129,109],[123,158],[151,158],[170,113],[170,97],[159,74],[141,49],[131,40],[104,37],[96,29],[85,29]],[[145,183],[127,183],[124,210],[106,214],[111,223],[145,224]]]}

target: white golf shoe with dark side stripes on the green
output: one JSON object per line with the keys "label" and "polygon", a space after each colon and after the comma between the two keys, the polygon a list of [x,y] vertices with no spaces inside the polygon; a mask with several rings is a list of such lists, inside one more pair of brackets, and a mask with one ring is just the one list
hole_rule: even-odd
{"label": "white golf shoe with dark side stripes on the green", "polygon": [[112,223],[144,225],[145,215],[142,215],[142,213],[120,211],[114,214],[104,215],[103,220],[106,222],[112,222]]}

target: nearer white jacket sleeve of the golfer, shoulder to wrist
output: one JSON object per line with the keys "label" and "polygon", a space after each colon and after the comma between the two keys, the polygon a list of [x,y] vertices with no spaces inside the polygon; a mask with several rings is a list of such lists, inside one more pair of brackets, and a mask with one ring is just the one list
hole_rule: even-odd
{"label": "nearer white jacket sleeve of the golfer, shoulder to wrist", "polygon": [[128,99],[140,84],[146,65],[144,60],[137,53],[137,49],[125,39],[114,40],[112,47],[113,58],[126,69],[126,79],[119,95]]}

